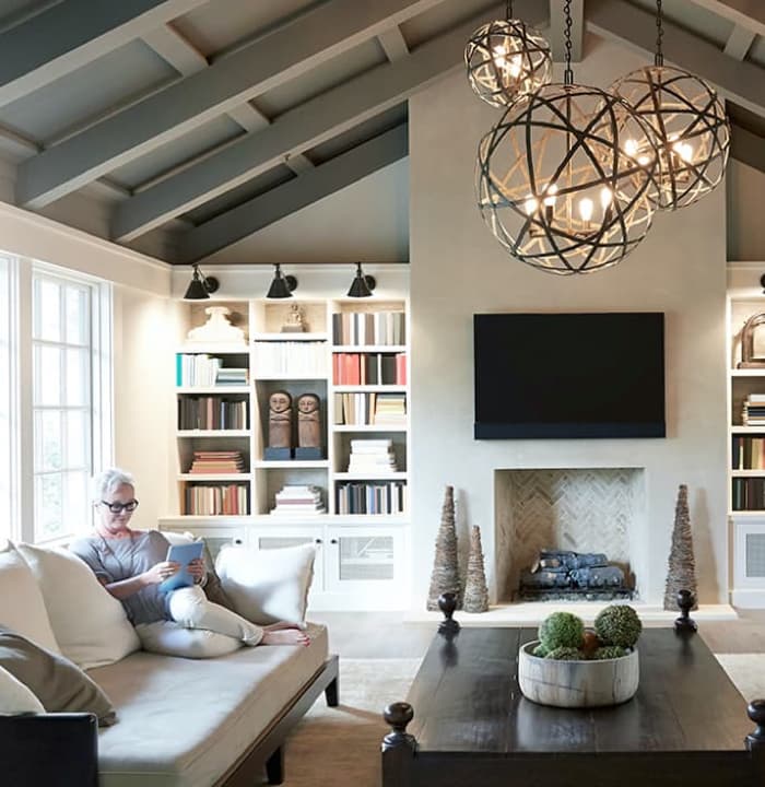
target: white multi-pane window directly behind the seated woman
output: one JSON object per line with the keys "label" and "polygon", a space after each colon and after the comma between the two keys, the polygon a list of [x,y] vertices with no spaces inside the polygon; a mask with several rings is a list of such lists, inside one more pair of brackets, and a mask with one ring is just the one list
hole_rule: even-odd
{"label": "white multi-pane window directly behind the seated woman", "polygon": [[[47,266],[32,273],[32,413],[35,542],[91,524],[89,480],[109,456],[105,408],[108,346],[102,319],[108,285]],[[108,310],[108,309],[106,309]],[[105,374],[106,372],[106,374]],[[28,536],[27,536],[28,538]]]}

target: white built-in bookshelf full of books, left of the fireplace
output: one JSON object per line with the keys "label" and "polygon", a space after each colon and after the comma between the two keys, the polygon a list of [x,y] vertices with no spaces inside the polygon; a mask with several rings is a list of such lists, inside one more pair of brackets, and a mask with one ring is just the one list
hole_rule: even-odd
{"label": "white built-in bookshelf full of books, left of the fireplace", "polygon": [[[258,549],[315,543],[321,565],[313,595],[325,609],[353,608],[349,588],[361,603],[366,591],[403,587],[410,483],[405,292],[368,301],[184,304],[187,330],[204,325],[203,309],[212,303],[232,312],[242,341],[176,348],[178,510],[163,517],[162,527],[217,539],[226,533],[224,542],[229,535],[232,542]],[[295,312],[304,330],[282,330]],[[293,445],[298,397],[318,397],[320,455],[274,457],[267,450],[275,391],[292,398]]]}

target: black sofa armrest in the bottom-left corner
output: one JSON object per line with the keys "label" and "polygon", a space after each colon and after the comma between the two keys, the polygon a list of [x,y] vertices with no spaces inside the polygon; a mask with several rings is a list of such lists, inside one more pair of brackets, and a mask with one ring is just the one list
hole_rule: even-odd
{"label": "black sofa armrest in the bottom-left corner", "polygon": [[0,716],[2,783],[14,787],[97,787],[98,723],[93,714]]}

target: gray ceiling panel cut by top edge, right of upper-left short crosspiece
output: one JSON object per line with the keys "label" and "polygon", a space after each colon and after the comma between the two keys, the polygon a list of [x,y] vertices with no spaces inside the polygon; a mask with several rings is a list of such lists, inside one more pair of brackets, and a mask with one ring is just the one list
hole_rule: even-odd
{"label": "gray ceiling panel cut by top edge, right of upper-left short crosspiece", "polygon": [[173,26],[207,58],[280,27],[316,0],[215,0],[177,19]]}

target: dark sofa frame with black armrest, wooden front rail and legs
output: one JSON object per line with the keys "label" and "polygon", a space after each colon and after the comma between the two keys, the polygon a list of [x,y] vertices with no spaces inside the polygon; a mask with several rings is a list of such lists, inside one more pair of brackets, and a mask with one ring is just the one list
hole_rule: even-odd
{"label": "dark sofa frame with black armrest, wooden front rail and legs", "polygon": [[[266,768],[269,784],[284,780],[284,741],[323,692],[338,705],[338,657],[323,666],[278,718],[215,783],[215,787],[256,784]],[[0,716],[2,783],[13,787],[97,787],[98,730],[92,714]]]}

